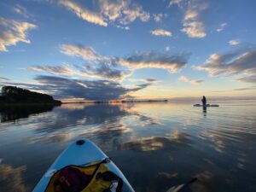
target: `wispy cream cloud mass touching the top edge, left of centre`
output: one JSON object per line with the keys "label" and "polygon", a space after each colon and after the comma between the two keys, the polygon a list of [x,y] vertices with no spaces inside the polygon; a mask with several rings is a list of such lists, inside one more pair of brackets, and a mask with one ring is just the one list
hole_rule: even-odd
{"label": "wispy cream cloud mass touching the top edge, left of centre", "polygon": [[59,4],[73,11],[82,20],[100,26],[108,26],[110,23],[121,29],[127,30],[126,25],[134,20],[146,22],[150,19],[150,14],[143,10],[143,7],[131,0],[98,0],[97,10],[92,11],[85,8],[85,5],[74,3],[71,0],[60,0]]}

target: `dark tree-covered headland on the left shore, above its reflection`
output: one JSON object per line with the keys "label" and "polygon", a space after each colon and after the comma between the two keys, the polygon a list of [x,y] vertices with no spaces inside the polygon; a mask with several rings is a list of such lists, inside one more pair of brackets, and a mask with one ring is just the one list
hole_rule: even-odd
{"label": "dark tree-covered headland on the left shore, above its reflection", "polygon": [[0,103],[61,105],[61,102],[54,100],[52,96],[21,89],[15,86],[3,86],[0,96]]}

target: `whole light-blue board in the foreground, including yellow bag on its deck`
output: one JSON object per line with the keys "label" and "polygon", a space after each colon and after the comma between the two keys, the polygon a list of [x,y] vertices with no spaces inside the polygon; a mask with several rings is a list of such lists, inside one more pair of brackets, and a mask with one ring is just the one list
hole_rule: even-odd
{"label": "whole light-blue board in the foreground, including yellow bag on its deck", "polygon": [[113,161],[96,144],[84,139],[71,143],[33,189],[33,192],[43,191],[134,190]]}

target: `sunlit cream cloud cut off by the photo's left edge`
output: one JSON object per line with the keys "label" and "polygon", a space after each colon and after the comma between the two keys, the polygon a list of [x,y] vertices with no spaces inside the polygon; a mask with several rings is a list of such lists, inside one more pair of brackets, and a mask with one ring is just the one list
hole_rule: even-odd
{"label": "sunlit cream cloud cut off by the photo's left edge", "polygon": [[19,42],[30,44],[26,32],[36,27],[31,23],[0,17],[0,51],[8,51],[7,46],[16,45]]}

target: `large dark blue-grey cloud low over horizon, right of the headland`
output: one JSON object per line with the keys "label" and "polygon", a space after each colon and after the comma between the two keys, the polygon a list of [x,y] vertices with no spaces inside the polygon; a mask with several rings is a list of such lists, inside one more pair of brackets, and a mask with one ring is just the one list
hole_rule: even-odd
{"label": "large dark blue-grey cloud low over horizon, right of the headland", "polygon": [[87,100],[117,100],[131,92],[143,90],[150,84],[140,84],[128,89],[121,84],[108,80],[79,80],[53,76],[38,76],[38,89],[53,91],[56,97],[79,97]]}

